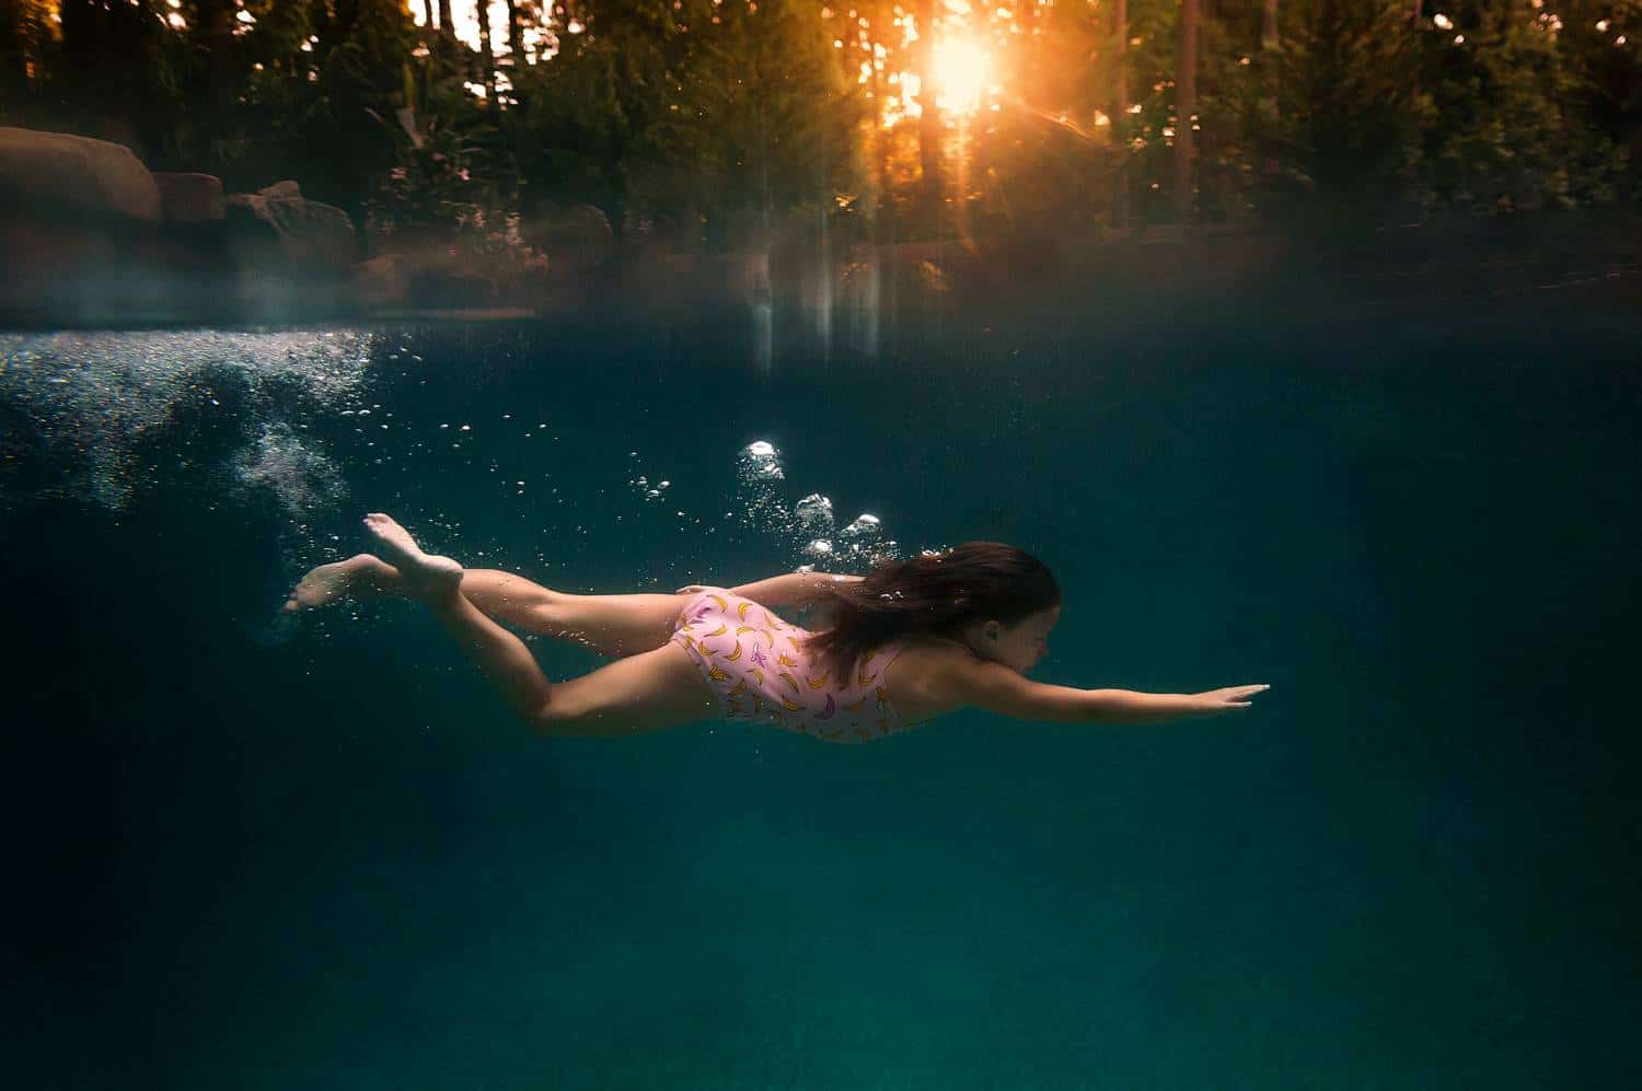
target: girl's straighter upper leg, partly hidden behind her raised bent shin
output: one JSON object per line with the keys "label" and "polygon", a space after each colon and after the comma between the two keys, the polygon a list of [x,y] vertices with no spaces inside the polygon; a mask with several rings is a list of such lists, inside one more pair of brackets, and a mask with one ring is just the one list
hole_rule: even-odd
{"label": "girl's straighter upper leg, partly hidden behind her raised bent shin", "polygon": [[[399,569],[361,553],[320,564],[291,592],[286,610],[325,605],[342,596],[404,596]],[[504,625],[575,640],[599,655],[624,656],[660,648],[673,635],[680,596],[573,596],[489,568],[461,573],[461,594]]]}

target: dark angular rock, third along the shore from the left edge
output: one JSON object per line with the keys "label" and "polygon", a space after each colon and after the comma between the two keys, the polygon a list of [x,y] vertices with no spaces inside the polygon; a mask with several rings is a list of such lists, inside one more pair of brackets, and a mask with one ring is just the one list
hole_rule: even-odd
{"label": "dark angular rock, third along the shore from the left edge", "polygon": [[[289,187],[289,189],[287,189]],[[292,192],[296,182],[269,190]],[[345,276],[353,264],[348,213],[304,197],[230,194],[223,199],[230,248],[241,266],[264,272]]]}

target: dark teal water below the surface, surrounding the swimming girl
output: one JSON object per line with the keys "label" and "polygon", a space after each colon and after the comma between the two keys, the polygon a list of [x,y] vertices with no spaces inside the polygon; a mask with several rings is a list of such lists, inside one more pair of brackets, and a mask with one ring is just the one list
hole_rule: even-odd
{"label": "dark teal water below the surface, surrounding the swimming girl", "polygon": [[[1634,1086],[1634,325],[1098,326],[5,338],[13,1086]],[[271,620],[366,510],[670,591],[806,494],[1038,553],[1046,681],[1273,689],[534,740],[407,604]]]}

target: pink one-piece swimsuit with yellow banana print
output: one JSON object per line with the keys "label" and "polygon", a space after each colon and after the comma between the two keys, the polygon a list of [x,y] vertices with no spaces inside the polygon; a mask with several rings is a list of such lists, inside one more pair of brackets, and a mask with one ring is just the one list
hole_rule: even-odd
{"label": "pink one-piece swimsuit with yellow banana print", "polygon": [[701,668],[726,720],[775,724],[829,743],[869,743],[918,727],[901,724],[883,687],[900,641],[864,655],[849,678],[829,678],[805,651],[808,640],[808,630],[722,587],[685,599],[672,637]]}

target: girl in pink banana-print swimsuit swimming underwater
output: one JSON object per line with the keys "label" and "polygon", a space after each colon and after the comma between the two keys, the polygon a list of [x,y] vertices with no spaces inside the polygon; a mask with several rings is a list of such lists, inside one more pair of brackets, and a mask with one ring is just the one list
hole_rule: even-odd
{"label": "girl in pink banana-print swimsuit swimming underwater", "polygon": [[[365,527],[381,558],[361,553],[315,568],[286,610],[345,594],[414,599],[540,735],[629,735],[727,719],[859,743],[964,707],[1020,720],[1156,724],[1246,709],[1269,689],[1144,694],[1030,681],[1061,617],[1061,589],[1036,558],[995,541],[885,561],[865,576],[791,573],[670,596],[573,596],[430,556],[388,515],[366,515]],[[821,607],[829,623],[798,628],[770,609],[778,605]],[[550,682],[498,622],[617,658]]]}

